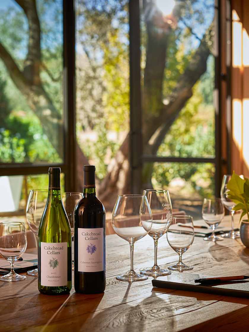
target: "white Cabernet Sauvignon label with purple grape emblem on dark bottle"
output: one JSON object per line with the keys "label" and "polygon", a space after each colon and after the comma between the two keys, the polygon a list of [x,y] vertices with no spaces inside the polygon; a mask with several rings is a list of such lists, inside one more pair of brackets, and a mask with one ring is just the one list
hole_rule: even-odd
{"label": "white Cabernet Sauvignon label with purple grape emblem on dark bottle", "polygon": [[104,270],[104,229],[78,228],[78,271]]}

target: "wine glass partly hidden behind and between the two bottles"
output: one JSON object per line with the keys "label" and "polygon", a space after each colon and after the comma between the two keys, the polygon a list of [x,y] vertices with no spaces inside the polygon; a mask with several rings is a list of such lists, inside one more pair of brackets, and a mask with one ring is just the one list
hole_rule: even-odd
{"label": "wine glass partly hidden behind and between the two bottles", "polygon": [[[65,207],[68,220],[71,227],[71,234],[72,234],[72,242],[74,240],[74,208],[76,204],[82,199],[83,193],[73,193],[73,192],[66,192],[63,193],[61,196],[62,204]],[[72,245],[72,270],[74,271],[74,246]]]}

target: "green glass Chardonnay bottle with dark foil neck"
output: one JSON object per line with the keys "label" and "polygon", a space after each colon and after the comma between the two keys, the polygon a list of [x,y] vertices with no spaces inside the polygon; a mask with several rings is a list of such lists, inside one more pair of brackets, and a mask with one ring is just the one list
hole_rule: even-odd
{"label": "green glass Chardonnay bottle with dark foil neck", "polygon": [[38,231],[38,290],[68,294],[72,288],[72,238],[61,202],[59,167],[49,167],[48,198]]}

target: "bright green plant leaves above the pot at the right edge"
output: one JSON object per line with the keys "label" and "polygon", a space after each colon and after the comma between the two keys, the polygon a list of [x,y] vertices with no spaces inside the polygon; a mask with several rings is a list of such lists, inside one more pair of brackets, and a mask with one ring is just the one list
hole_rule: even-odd
{"label": "bright green plant leaves above the pot at the right edge", "polygon": [[230,181],[227,183],[227,195],[230,200],[236,203],[234,211],[242,210],[240,220],[244,215],[249,222],[249,179],[242,179],[234,171]]}

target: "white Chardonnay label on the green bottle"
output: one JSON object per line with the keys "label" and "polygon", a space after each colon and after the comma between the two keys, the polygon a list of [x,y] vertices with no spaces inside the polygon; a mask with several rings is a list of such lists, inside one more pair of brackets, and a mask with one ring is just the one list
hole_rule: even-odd
{"label": "white Chardonnay label on the green bottle", "polygon": [[67,242],[41,242],[41,286],[67,286]]}

